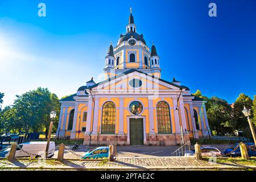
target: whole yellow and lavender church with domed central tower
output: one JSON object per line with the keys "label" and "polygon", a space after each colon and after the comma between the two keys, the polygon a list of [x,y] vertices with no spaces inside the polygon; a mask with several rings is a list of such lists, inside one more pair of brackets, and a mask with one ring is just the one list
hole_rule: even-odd
{"label": "whole yellow and lavender church with domed central tower", "polygon": [[210,135],[205,101],[175,78],[161,77],[156,46],[150,49],[137,32],[132,12],[113,46],[102,59],[105,80],[92,78],[60,100],[60,138],[84,138],[85,145],[176,145]]}

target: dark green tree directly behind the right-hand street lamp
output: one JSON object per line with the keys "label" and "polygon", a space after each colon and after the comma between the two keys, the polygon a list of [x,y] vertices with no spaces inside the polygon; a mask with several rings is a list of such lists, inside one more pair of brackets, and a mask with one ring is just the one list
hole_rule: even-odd
{"label": "dark green tree directly behind the right-hand street lamp", "polygon": [[243,106],[246,109],[251,109],[253,105],[253,100],[249,96],[246,96],[244,93],[241,93],[236,102],[234,102],[233,117],[234,125],[237,130],[245,130],[248,126],[247,118],[243,115],[242,110]]}

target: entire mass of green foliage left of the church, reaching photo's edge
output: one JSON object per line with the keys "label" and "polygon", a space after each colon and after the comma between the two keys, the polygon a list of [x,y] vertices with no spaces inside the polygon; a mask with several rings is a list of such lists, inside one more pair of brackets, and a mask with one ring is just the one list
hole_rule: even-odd
{"label": "entire mass of green foliage left of the church, reaching photo's edge", "polygon": [[16,130],[24,130],[26,135],[28,132],[39,132],[49,127],[49,113],[55,110],[57,116],[53,122],[56,131],[57,121],[59,119],[60,104],[56,94],[49,92],[45,88],[37,88],[16,96],[13,106],[6,107],[0,118],[0,132],[5,129],[16,132]]}

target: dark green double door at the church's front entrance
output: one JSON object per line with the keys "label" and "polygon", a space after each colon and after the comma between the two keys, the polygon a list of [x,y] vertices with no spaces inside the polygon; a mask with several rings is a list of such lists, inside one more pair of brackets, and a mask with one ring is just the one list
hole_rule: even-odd
{"label": "dark green double door at the church's front entrance", "polygon": [[130,144],[143,145],[143,119],[130,119]]}

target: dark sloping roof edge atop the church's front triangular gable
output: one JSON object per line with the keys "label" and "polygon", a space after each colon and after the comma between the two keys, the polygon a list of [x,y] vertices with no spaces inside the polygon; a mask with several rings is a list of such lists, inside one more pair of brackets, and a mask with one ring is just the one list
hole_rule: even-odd
{"label": "dark sloping roof edge atop the church's front triangular gable", "polygon": [[[111,78],[109,78],[109,79],[107,79],[107,80],[101,81],[101,82],[99,82],[99,83],[97,83],[97,84],[95,84],[95,85],[89,86],[88,88],[94,88],[94,87],[96,87],[96,86],[98,86],[98,85],[102,85],[102,84],[105,84],[106,82],[115,80],[116,78],[119,78],[119,77],[123,76],[123,74],[124,74],[124,75],[128,75],[129,73],[133,73],[133,72],[143,73],[144,75],[147,75],[147,76],[150,76],[150,77],[152,77],[152,78],[155,78],[154,76],[148,75],[147,73],[144,73],[144,72],[141,72],[141,71],[138,71],[137,69],[129,69],[129,70],[126,71],[126,72],[123,72],[123,73],[121,73],[121,74],[118,74],[118,75],[116,75],[116,76],[113,76],[113,77],[111,77]],[[174,85],[174,86],[176,86],[177,88],[189,90],[189,88],[188,88],[187,86],[176,85],[176,84],[174,84],[174,83],[172,83],[172,82],[163,80],[163,79],[161,79],[161,78],[158,78],[158,79],[159,79],[160,81],[166,82],[167,84]]]}

